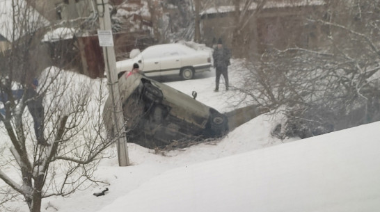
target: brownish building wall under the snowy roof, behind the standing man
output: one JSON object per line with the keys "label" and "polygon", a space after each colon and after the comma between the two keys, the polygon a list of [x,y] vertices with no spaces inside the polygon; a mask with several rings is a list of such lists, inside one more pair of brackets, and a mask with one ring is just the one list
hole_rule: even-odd
{"label": "brownish building wall under the snowy roof, behind the standing man", "polygon": [[[304,15],[316,13],[321,9],[323,8],[315,6],[264,9],[257,17],[248,20],[244,31],[241,32],[243,40],[239,43],[248,48],[257,48],[259,54],[268,48],[317,47],[321,33],[319,26],[305,22]],[[203,42],[207,46],[212,46],[214,38],[222,38],[223,44],[234,48],[231,46],[235,31],[234,14],[220,13],[203,17],[201,31]]]}

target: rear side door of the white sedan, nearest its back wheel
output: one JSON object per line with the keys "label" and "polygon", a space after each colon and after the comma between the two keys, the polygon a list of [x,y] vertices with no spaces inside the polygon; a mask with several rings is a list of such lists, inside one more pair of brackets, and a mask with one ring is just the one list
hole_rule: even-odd
{"label": "rear side door of the white sedan, nearest its back wheel", "polygon": [[162,51],[160,58],[161,75],[180,74],[181,57],[180,49],[168,48]]}

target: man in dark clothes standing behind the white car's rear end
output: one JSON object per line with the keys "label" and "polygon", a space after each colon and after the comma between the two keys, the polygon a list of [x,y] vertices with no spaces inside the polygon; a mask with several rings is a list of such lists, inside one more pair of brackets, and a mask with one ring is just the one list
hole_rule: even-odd
{"label": "man in dark clothes standing behind the white car's rear end", "polygon": [[216,81],[214,92],[219,91],[219,80],[223,74],[225,81],[225,90],[228,90],[228,65],[230,65],[230,49],[224,48],[221,38],[218,40],[218,44],[212,53],[214,58],[214,67],[216,70]]}

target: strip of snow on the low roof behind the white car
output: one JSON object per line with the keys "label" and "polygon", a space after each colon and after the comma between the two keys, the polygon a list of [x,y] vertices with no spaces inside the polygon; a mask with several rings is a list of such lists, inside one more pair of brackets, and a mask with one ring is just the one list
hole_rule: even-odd
{"label": "strip of snow on the low roof behind the white car", "polygon": [[[295,6],[322,6],[324,5],[324,0],[301,0],[301,1],[283,1],[283,2],[277,2],[277,1],[268,1],[264,8],[285,8],[285,7],[295,7]],[[257,8],[256,3],[252,3],[249,7],[250,10],[255,10]],[[216,8],[209,8],[203,12],[200,13],[200,15],[205,14],[215,14],[215,13],[230,13],[235,11],[235,6],[219,6]]]}

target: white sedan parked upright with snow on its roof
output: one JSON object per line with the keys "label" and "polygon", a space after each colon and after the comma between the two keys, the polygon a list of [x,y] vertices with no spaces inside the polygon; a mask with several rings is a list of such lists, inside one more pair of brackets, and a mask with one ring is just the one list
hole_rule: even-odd
{"label": "white sedan parked upright with snow on its roof", "polygon": [[195,50],[184,44],[159,44],[142,52],[130,54],[130,59],[116,63],[118,72],[132,70],[138,63],[145,76],[166,76],[179,74],[182,79],[192,79],[198,72],[209,71],[211,55],[207,51]]}

